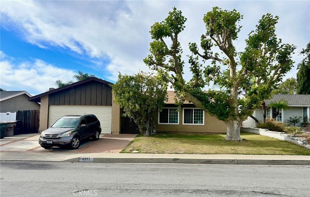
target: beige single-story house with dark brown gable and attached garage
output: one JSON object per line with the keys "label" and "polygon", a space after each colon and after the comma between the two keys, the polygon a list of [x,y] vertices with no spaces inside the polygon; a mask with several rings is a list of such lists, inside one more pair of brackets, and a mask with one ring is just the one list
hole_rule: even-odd
{"label": "beige single-story house with dark brown gable and attached garage", "polygon": [[[94,114],[100,121],[102,133],[139,132],[132,120],[123,117],[122,109],[113,103],[111,82],[91,77],[57,89],[38,94],[29,101],[40,102],[40,132],[57,119],[69,114]],[[181,111],[174,104],[174,91],[168,91],[168,102],[156,120],[157,131],[226,132],[226,125],[191,103]]]}

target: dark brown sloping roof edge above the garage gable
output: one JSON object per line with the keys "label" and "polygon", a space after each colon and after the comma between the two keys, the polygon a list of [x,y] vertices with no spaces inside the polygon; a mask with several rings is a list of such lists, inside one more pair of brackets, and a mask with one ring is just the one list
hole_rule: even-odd
{"label": "dark brown sloping roof edge above the garage gable", "polygon": [[77,85],[81,85],[83,83],[90,82],[90,81],[97,81],[97,82],[100,82],[100,83],[104,83],[104,84],[106,84],[108,86],[110,84],[113,84],[111,82],[108,82],[108,81],[105,81],[105,80],[102,80],[102,79],[99,79],[99,78],[96,78],[96,77],[90,77],[90,78],[84,79],[82,81],[71,83],[71,84],[69,84],[67,86],[64,86],[64,87],[56,88],[54,90],[50,90],[50,91],[47,91],[47,92],[43,92],[42,94],[35,95],[33,97],[30,97],[28,99],[28,101],[40,102],[42,96],[46,96],[46,95],[49,95],[49,94],[52,94],[52,93],[55,93],[55,92],[58,92],[58,91],[61,91],[61,90],[65,90],[65,89],[71,88],[73,86],[77,86]]}

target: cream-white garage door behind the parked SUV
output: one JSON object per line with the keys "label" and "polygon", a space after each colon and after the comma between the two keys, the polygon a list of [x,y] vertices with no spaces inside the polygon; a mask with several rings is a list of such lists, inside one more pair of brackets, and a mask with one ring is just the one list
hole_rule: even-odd
{"label": "cream-white garage door behind the parked SUV", "polygon": [[111,133],[112,106],[87,106],[87,105],[50,105],[48,126],[57,119],[70,114],[94,114],[100,121],[101,133]]}

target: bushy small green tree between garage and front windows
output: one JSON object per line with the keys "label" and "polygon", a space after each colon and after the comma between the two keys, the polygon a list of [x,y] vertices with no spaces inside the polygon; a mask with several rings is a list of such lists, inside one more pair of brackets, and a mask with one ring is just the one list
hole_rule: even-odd
{"label": "bushy small green tree between garage and front windows", "polygon": [[163,75],[140,72],[135,75],[118,75],[112,86],[114,102],[124,110],[124,115],[133,118],[143,135],[155,130],[156,111],[162,110],[167,94]]}

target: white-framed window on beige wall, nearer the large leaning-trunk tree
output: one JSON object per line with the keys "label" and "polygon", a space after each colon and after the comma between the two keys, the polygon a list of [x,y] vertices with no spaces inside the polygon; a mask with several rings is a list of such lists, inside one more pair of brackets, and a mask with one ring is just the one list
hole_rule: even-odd
{"label": "white-framed window on beige wall, nearer the large leaning-trunk tree", "polygon": [[205,111],[200,108],[183,108],[183,124],[205,124]]}

